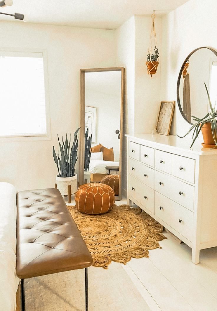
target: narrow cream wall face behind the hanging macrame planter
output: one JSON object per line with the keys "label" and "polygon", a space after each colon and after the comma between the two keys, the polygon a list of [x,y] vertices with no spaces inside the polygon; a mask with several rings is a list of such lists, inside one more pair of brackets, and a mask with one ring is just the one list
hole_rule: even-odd
{"label": "narrow cream wall face behind the hanging macrame planter", "polygon": [[161,18],[155,18],[160,57],[159,67],[152,77],[146,67],[151,23],[150,16],[135,16],[135,134],[152,132],[160,107]]}

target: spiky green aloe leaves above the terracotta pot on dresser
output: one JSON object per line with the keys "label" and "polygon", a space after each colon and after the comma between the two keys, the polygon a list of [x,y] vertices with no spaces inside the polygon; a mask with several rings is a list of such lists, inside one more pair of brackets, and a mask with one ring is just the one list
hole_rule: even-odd
{"label": "spiky green aloe leaves above the terracotta pot on dresser", "polygon": [[177,135],[178,137],[183,138],[183,137],[187,136],[192,130],[194,130],[193,135],[192,135],[193,141],[192,141],[191,147],[193,146],[196,138],[198,137],[203,125],[205,123],[208,123],[208,122],[211,123],[212,136],[213,136],[213,139],[215,142],[215,146],[217,146],[217,110],[215,110],[215,107],[213,108],[213,106],[212,106],[212,103],[210,100],[210,95],[209,95],[209,92],[208,92],[208,89],[206,87],[205,82],[204,82],[204,85],[205,85],[206,93],[208,96],[208,101],[209,101],[209,105],[210,105],[210,112],[208,112],[205,115],[205,117],[203,117],[202,119],[197,118],[195,116],[192,116],[193,120],[196,121],[196,123],[194,123],[192,125],[192,127],[189,129],[189,131],[184,136],[178,136]]}

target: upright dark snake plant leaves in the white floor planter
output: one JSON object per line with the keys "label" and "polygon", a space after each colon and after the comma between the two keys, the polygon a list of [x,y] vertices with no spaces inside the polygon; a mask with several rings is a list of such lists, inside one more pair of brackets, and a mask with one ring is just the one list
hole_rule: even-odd
{"label": "upright dark snake plant leaves in the white floor planter", "polygon": [[56,152],[53,146],[53,159],[58,168],[58,173],[59,173],[58,177],[75,176],[75,164],[78,159],[77,158],[77,152],[78,152],[77,134],[79,130],[80,128],[78,128],[74,134],[74,141],[72,144],[71,152],[70,152],[71,134],[70,134],[69,142],[68,142],[67,134],[66,134],[65,142],[63,141],[63,137],[62,137],[62,145],[59,141],[59,136],[57,135],[61,157],[59,156],[59,151],[56,155]]}

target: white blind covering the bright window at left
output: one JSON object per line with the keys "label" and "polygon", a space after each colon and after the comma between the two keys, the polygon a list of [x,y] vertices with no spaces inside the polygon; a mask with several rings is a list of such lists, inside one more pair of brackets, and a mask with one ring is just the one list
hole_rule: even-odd
{"label": "white blind covering the bright window at left", "polygon": [[0,51],[0,136],[46,136],[43,53]]}

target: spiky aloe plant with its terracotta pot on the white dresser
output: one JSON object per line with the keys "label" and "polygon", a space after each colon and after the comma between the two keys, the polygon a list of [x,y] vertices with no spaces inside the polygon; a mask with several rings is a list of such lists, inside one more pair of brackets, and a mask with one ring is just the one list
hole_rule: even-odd
{"label": "spiky aloe plant with its terracotta pot on the white dresser", "polygon": [[198,137],[200,131],[203,135],[204,142],[202,143],[202,146],[205,148],[216,148],[217,147],[217,110],[215,107],[212,106],[210,95],[207,89],[207,86],[204,82],[206,93],[208,96],[209,106],[210,106],[210,112],[208,112],[205,117],[203,118],[197,118],[195,116],[192,116],[193,120],[195,121],[195,124],[192,125],[192,127],[189,129],[189,131],[184,136],[179,136],[180,138],[183,138],[187,136],[192,130],[192,144],[193,146],[196,138]]}

